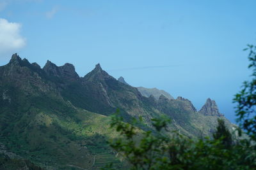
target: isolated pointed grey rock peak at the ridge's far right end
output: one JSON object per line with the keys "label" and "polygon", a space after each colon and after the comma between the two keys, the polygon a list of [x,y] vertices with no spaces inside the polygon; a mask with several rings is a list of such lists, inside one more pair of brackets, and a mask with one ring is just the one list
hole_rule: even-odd
{"label": "isolated pointed grey rock peak at the ridge's far right end", "polygon": [[210,98],[207,99],[206,103],[204,104],[204,106],[202,106],[199,113],[207,116],[223,116],[223,114],[220,113],[216,102],[214,100],[211,100]]}

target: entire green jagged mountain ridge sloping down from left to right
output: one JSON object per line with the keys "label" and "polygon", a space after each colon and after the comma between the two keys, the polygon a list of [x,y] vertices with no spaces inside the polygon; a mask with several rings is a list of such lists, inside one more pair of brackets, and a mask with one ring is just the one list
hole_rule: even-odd
{"label": "entire green jagged mountain ridge sloping down from left to right", "polygon": [[109,115],[116,108],[125,122],[141,117],[137,126],[142,131],[152,130],[151,118],[167,116],[172,119],[170,129],[198,138],[211,136],[218,118],[232,130],[233,125],[216,107],[208,101],[197,112],[183,97],[145,97],[136,87],[110,76],[100,64],[79,77],[72,64],[56,66],[47,60],[41,68],[15,53],[0,67],[0,143],[4,153],[45,169],[100,169],[111,162],[124,168],[122,158],[107,143],[118,136],[109,129]]}

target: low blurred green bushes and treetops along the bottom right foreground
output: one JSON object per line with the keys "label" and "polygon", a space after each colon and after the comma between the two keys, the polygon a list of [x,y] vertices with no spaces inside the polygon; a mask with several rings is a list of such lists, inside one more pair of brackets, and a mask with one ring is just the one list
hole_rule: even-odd
{"label": "low blurred green bushes and treetops along the bottom right foreground", "polygon": [[[120,138],[110,142],[116,152],[125,158],[130,169],[255,169],[255,145],[247,139],[232,141],[232,135],[223,120],[213,138],[189,139],[177,131],[166,136],[170,120],[154,119],[157,133],[141,131],[122,122],[122,117],[112,117],[111,127],[120,132]],[[108,167],[111,169],[111,167]]]}

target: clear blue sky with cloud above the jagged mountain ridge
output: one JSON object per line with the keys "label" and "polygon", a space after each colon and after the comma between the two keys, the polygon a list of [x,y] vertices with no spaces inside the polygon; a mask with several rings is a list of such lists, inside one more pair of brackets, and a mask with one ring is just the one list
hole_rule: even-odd
{"label": "clear blue sky with cloud above the jagged mountain ridge", "polygon": [[[232,98],[249,80],[256,1],[0,0],[0,65],[19,53],[44,66],[70,62],[80,76],[98,62],[134,87],[207,97],[234,122]],[[2,23],[2,24],[1,24]]]}

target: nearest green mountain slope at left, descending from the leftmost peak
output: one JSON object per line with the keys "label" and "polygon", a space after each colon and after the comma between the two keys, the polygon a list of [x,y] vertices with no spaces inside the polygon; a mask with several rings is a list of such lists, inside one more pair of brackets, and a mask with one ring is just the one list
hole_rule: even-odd
{"label": "nearest green mountain slope at left, descending from the leftmost peak", "polygon": [[65,101],[60,82],[25,64],[13,55],[0,67],[0,141],[7,150],[42,167],[95,168],[99,153],[120,162],[106,143],[115,137],[109,118]]}

